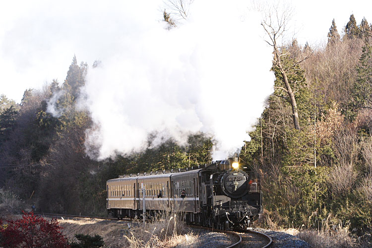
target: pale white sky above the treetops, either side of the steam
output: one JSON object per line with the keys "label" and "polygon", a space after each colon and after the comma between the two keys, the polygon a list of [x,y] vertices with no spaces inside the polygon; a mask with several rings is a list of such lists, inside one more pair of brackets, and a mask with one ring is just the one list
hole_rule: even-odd
{"label": "pale white sky above the treetops, either side of the steam", "polygon": [[[121,43],[115,34],[123,26],[121,9],[127,4],[122,2],[2,0],[0,94],[20,102],[27,88],[41,88],[54,78],[62,83],[74,54],[78,62],[89,65],[115,57],[106,48]],[[133,2],[133,15],[152,14],[161,20],[156,1]],[[150,7],[143,11],[143,5]],[[372,22],[371,0],[297,0],[290,5],[294,8],[291,32],[301,45],[324,44],[333,18],[340,34],[352,13],[357,24],[363,17]]]}

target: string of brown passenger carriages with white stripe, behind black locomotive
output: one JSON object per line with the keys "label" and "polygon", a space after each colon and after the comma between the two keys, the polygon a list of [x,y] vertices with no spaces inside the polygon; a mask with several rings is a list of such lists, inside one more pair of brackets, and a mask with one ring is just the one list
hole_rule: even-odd
{"label": "string of brown passenger carriages with white stripe, behind black locomotive", "polygon": [[[198,170],[133,176],[107,181],[107,209],[113,217],[139,216],[145,209],[180,209],[184,212],[200,212]],[[193,216],[191,216],[191,219]]]}

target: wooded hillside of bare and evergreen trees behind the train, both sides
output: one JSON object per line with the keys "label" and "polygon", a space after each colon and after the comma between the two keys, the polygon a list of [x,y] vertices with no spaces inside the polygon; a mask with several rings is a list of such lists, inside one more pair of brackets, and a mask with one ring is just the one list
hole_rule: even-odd
{"label": "wooded hillside of bare and evergreen trees behind the train, both sides", "polygon": [[[371,233],[371,30],[366,19],[357,25],[351,15],[342,36],[332,22],[323,47],[293,40],[278,51],[275,92],[240,155],[261,175],[267,226],[321,229],[327,220],[330,229]],[[149,135],[143,152],[99,162],[88,157],[86,129],[94,126],[76,103],[89,69],[73,57],[62,83],[27,89],[20,104],[1,95],[1,209],[10,202],[9,209],[18,211],[11,202],[20,198],[37,211],[105,215],[108,179],[211,161],[214,140],[203,133],[190,135],[186,147],[172,139],[153,147]],[[282,70],[297,103],[298,126]],[[53,116],[47,108],[56,95]],[[249,106],[239,107],[241,115],[249,114]]]}

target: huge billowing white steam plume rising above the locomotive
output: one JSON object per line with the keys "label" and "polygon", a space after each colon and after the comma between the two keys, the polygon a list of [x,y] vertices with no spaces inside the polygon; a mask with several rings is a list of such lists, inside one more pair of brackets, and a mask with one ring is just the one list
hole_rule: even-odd
{"label": "huge billowing white steam plume rising above the locomotive", "polygon": [[138,152],[154,132],[153,145],[170,137],[184,145],[201,131],[217,141],[213,159],[224,159],[250,139],[273,92],[260,15],[237,1],[195,0],[188,19],[168,30],[154,2],[124,4],[108,20],[108,29],[110,22],[120,29],[105,39],[102,63],[88,70],[82,89],[80,104],[95,124],[87,153]]}

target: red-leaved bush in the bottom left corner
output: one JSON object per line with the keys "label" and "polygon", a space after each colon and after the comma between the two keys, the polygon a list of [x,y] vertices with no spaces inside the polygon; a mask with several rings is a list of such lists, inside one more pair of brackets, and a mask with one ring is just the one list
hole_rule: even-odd
{"label": "red-leaved bush in the bottom left corner", "polygon": [[[1,225],[1,220],[0,220]],[[31,213],[22,219],[7,220],[0,226],[0,247],[3,248],[69,248],[56,219],[48,222]]]}

